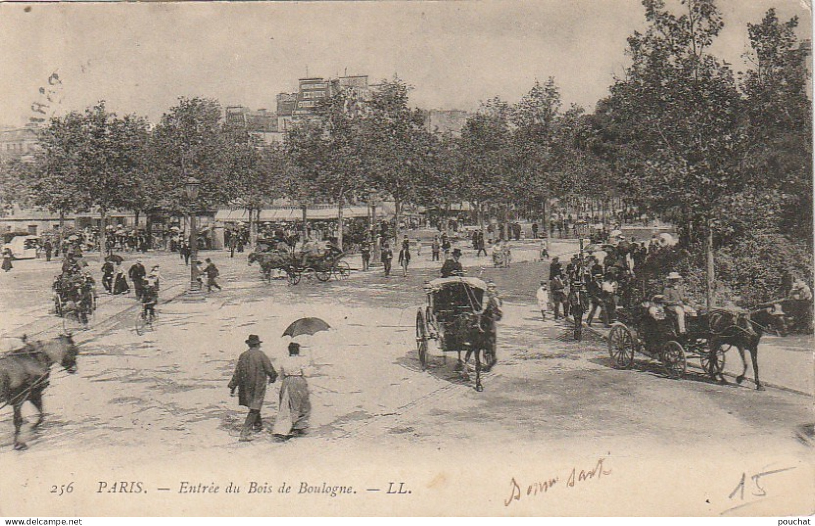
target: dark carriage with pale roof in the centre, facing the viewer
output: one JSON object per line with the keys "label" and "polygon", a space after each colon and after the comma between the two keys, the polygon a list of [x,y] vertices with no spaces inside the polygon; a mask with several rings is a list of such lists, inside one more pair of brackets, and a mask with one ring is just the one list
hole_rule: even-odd
{"label": "dark carriage with pale roof in the centre, facing the viewer", "polygon": [[481,372],[497,361],[495,322],[501,316],[487,298],[487,283],[460,276],[438,278],[425,284],[425,292],[427,305],[416,313],[416,349],[422,370],[429,362],[431,341],[445,359],[446,353],[458,353],[457,366],[465,379],[469,379],[469,356],[474,354],[475,390],[482,391]]}

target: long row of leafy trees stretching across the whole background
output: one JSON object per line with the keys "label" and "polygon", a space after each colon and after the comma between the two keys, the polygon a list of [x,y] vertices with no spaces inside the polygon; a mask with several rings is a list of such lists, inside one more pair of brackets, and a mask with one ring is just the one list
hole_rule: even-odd
{"label": "long row of leafy trees stretching across the whole background", "polygon": [[755,281],[744,274],[752,272],[766,278],[756,295],[769,296],[783,258],[766,268],[756,247],[788,255],[807,275],[812,253],[812,114],[798,20],[769,10],[748,24],[751,67],[734,73],[710,52],[724,25],[715,0],[681,0],[678,13],[662,0],[642,3],[648,26],[628,38],[631,65],[592,113],[564,108],[549,78],[518,103],[482,103],[460,135],[431,134],[394,77],[363,104],[337,94],[320,118],[266,145],[228,125],[211,99],[180,99],[155,126],[99,103],[51,121],[36,162],[3,171],[2,199],[28,195],[60,213],[180,214],[192,206],[183,181],[195,177],[199,208],[238,206],[253,217],[288,196],[304,213],[329,202],[341,214],[350,202],[392,199],[399,229],[411,204],[466,201],[509,224],[521,212],[545,221],[552,198],[625,195],[676,224],[707,268],[709,300],[717,253],[731,288]]}

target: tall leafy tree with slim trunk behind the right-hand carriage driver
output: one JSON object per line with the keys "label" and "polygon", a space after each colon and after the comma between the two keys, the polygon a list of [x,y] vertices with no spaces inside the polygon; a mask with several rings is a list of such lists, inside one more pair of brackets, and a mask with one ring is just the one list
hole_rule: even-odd
{"label": "tall leafy tree with slim trunk behind the right-hand carriage driver", "polygon": [[641,203],[676,221],[685,243],[704,234],[713,305],[720,204],[747,183],[739,169],[741,100],[732,72],[708,52],[723,22],[713,0],[681,0],[681,15],[662,0],[642,3],[650,25],[628,38],[632,65],[601,110],[630,146]]}

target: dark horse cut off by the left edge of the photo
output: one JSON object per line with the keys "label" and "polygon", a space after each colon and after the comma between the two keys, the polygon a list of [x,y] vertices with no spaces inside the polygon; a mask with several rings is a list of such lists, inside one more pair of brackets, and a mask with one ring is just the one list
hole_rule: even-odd
{"label": "dark horse cut off by the left edge of the photo", "polygon": [[23,425],[21,408],[30,401],[39,411],[33,427],[44,419],[42,412],[42,392],[48,387],[51,365],[59,363],[68,373],[77,372],[79,348],[72,335],[59,335],[52,340],[29,342],[23,337],[24,346],[5,354],[0,354],[0,407],[11,405],[14,408],[14,449],[28,449],[20,441],[20,427]]}

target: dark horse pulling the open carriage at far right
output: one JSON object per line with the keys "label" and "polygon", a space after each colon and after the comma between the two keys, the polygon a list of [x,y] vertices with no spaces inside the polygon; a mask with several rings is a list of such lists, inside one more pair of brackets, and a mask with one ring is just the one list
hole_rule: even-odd
{"label": "dark horse pulling the open carriage at far right", "polygon": [[[759,379],[759,342],[765,331],[783,331],[784,321],[781,309],[773,307],[753,310],[713,309],[710,313],[699,316],[699,323],[707,327],[711,354],[722,345],[729,345],[738,349],[742,357],[742,374],[736,377],[736,384],[742,384],[747,374],[747,359],[744,351],[750,351],[755,376],[756,389],[764,391]],[[726,383],[725,376],[720,372],[711,371],[713,379]]]}

